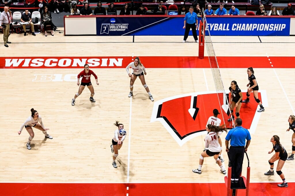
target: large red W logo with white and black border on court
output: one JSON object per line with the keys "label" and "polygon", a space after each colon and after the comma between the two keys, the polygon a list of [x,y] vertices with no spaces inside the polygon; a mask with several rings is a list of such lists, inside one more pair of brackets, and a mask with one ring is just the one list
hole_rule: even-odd
{"label": "large red W logo with white and black border on court", "polygon": [[[228,96],[229,91],[226,92]],[[242,94],[245,98],[246,91],[242,91]],[[259,90],[258,98],[265,107],[268,106],[266,91]],[[213,115],[213,109],[218,109],[220,113],[223,111],[223,114],[219,114],[218,117],[224,118],[225,123],[228,123],[227,119],[230,118],[230,112],[225,99],[228,99],[228,97],[224,97],[223,103],[219,104],[216,91],[165,98],[154,103],[150,121],[160,121],[176,142],[182,146],[196,136],[207,134],[205,131],[206,123],[208,118]],[[242,126],[249,129],[250,133],[254,133],[261,113],[257,112],[259,106],[254,100],[253,93],[250,100],[253,101],[242,103],[240,116],[243,120]],[[224,124],[223,120],[222,124]]]}

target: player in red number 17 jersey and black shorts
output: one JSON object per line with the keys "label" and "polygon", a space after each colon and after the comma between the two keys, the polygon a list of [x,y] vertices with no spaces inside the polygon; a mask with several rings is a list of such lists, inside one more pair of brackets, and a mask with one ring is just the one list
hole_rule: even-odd
{"label": "player in red number 17 jersey and black shorts", "polygon": [[91,92],[91,95],[90,95],[90,98],[89,100],[91,100],[92,102],[95,102],[93,96],[94,96],[94,88],[92,86],[92,83],[90,81],[90,76],[91,74],[94,76],[95,80],[96,80],[96,84],[99,85],[98,81],[97,81],[97,76],[96,74],[91,71],[89,69],[89,65],[88,64],[85,64],[84,65],[84,70],[81,71],[79,74],[78,74],[78,82],[77,82],[77,85],[79,86],[80,85],[80,78],[82,77],[82,80],[81,80],[81,85],[79,87],[79,91],[78,93],[75,94],[74,98],[72,99],[72,105],[75,105],[75,100],[76,98],[81,95],[82,91],[84,90],[85,86],[88,87],[89,91]]}

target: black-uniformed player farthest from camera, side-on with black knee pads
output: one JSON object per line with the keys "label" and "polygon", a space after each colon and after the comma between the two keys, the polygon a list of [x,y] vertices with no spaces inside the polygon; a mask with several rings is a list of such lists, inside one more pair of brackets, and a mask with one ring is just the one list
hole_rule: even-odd
{"label": "black-uniformed player farthest from camera, side-on with black knee pads", "polygon": [[255,101],[259,104],[260,106],[260,109],[257,110],[258,112],[263,112],[264,111],[264,107],[261,103],[261,101],[258,99],[258,90],[259,90],[259,87],[258,87],[258,84],[256,82],[256,78],[254,76],[254,71],[253,71],[253,68],[252,67],[249,67],[247,69],[247,73],[248,73],[248,80],[249,80],[249,83],[247,84],[247,87],[248,87],[248,91],[246,93],[247,95],[247,98],[243,100],[243,103],[249,103],[250,102],[250,93],[253,92],[253,95],[254,95],[254,98],[255,98]]}

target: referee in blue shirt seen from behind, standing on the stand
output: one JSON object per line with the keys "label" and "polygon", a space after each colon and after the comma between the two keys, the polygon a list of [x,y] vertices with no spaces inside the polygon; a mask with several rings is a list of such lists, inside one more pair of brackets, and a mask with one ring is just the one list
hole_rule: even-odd
{"label": "referee in blue shirt seen from behind, standing on the stand", "polygon": [[[242,173],[244,154],[250,145],[251,136],[248,129],[242,127],[242,119],[237,118],[235,128],[230,130],[225,137],[226,151],[230,155],[230,165],[232,167],[232,182],[238,182]],[[245,142],[247,140],[247,142]],[[230,141],[230,149],[228,142]],[[245,146],[246,145],[246,146]]]}

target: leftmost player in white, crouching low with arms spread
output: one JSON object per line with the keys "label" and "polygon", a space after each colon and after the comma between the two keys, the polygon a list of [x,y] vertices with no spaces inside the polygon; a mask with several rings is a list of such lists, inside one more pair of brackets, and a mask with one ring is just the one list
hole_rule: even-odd
{"label": "leftmost player in white, crouching low with arms spread", "polygon": [[[28,150],[31,150],[31,141],[35,135],[32,127],[35,127],[36,129],[41,130],[44,133],[45,138],[52,139],[52,137],[50,135],[48,135],[47,130],[49,130],[49,129],[44,127],[43,122],[42,122],[42,118],[41,118],[41,116],[39,116],[39,113],[36,110],[34,110],[34,108],[31,109],[31,113],[32,113],[32,115],[22,124],[22,126],[18,132],[18,134],[20,135],[22,133],[22,129],[25,127],[26,130],[28,131],[28,133],[30,134],[29,140],[27,142],[27,149]],[[40,124],[38,124],[38,122]]]}

